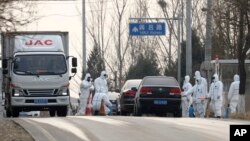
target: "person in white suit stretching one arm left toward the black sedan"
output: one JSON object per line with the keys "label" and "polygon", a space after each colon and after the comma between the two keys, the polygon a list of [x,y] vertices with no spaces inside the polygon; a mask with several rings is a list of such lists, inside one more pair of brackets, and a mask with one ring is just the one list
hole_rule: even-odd
{"label": "person in white suit stretching one arm left toward the black sedan", "polygon": [[206,98],[206,86],[202,83],[201,77],[195,78],[196,84],[192,89],[185,92],[184,95],[190,95],[193,93],[193,108],[195,117],[205,116],[205,98]]}

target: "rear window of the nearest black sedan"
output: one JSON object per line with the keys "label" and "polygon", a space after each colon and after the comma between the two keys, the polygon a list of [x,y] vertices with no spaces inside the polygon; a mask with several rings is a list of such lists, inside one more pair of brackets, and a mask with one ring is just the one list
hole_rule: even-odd
{"label": "rear window of the nearest black sedan", "polygon": [[144,78],[143,85],[179,86],[178,82],[171,77],[146,77]]}

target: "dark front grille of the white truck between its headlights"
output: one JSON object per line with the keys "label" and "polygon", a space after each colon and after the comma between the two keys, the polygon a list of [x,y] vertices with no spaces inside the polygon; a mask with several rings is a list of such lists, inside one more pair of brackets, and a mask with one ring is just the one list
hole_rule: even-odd
{"label": "dark front grille of the white truck between its headlights", "polygon": [[45,96],[45,95],[53,95],[55,94],[56,89],[26,89],[24,90],[26,95],[30,96]]}

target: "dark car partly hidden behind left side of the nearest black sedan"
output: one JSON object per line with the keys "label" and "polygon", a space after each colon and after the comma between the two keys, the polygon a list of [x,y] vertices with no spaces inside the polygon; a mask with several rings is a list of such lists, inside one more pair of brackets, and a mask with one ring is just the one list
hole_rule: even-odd
{"label": "dark car partly hidden behind left side of the nearest black sedan", "polygon": [[120,94],[121,115],[133,113],[134,97],[141,79],[130,79],[125,82]]}

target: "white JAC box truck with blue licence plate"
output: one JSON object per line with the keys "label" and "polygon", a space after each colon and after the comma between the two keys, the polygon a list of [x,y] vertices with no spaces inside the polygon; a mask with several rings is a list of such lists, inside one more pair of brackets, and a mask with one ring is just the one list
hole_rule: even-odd
{"label": "white JAC box truck with blue licence plate", "polygon": [[70,75],[77,67],[77,59],[69,56],[68,32],[6,32],[1,40],[6,116],[18,117],[21,111],[66,116]]}

